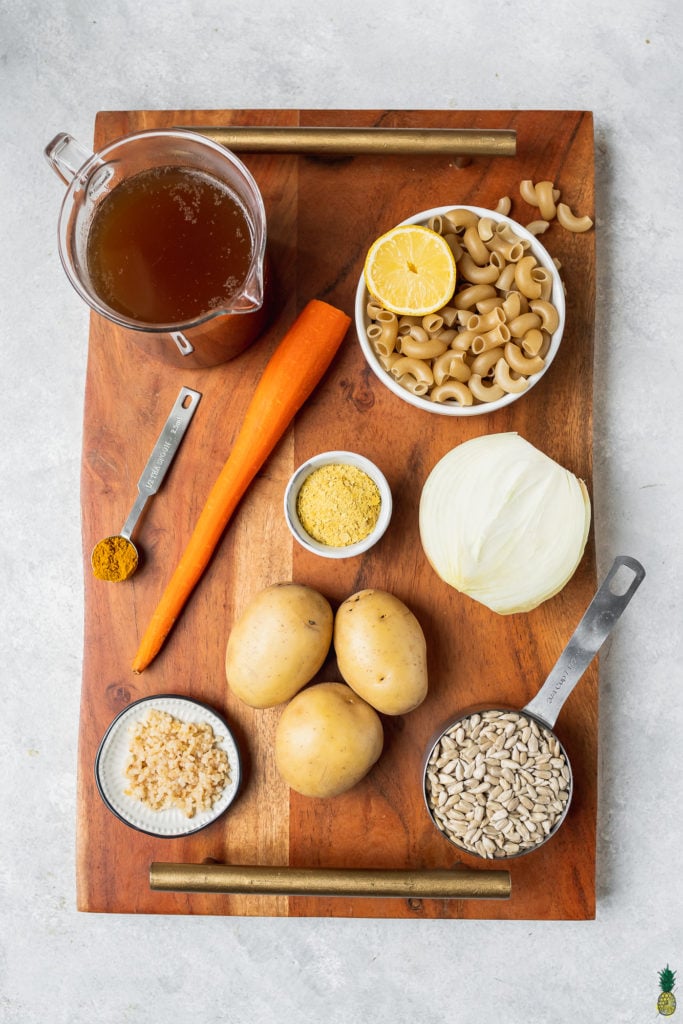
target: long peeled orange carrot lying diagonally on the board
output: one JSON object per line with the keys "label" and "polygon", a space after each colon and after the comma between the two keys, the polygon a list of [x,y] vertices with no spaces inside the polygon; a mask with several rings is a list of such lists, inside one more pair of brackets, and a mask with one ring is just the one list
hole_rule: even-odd
{"label": "long peeled orange carrot lying diagonally on the board", "polygon": [[340,309],[313,299],[271,355],[232,451],[142,636],[133,672],[146,669],[161,650],[245,492],[332,362],[350,323]]}

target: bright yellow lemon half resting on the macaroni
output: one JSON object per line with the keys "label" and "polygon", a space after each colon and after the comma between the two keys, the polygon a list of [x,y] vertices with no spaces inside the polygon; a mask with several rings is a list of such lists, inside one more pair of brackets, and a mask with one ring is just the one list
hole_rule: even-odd
{"label": "bright yellow lemon half resting on the macaroni", "polygon": [[456,290],[456,259],[437,231],[402,224],[372,244],[362,270],[370,294],[385,309],[425,316],[440,309]]}

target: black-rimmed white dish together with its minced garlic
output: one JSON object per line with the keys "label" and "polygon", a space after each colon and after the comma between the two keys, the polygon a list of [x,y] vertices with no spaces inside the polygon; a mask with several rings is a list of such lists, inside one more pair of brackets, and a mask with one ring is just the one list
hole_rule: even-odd
{"label": "black-rimmed white dish together with its minced garlic", "polygon": [[240,786],[240,752],[227,724],[188,697],[161,694],[124,709],[104,733],[95,781],[118,818],[150,836],[206,828]]}

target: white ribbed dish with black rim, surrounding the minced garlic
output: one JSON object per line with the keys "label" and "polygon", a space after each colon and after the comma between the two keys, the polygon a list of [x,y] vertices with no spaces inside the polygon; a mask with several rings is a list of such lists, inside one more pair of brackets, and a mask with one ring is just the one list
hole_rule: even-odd
{"label": "white ribbed dish with black rim, surrounding the minced garlic", "polygon": [[[181,722],[210,725],[217,748],[227,756],[229,778],[225,787],[209,810],[200,810],[191,818],[179,808],[153,810],[126,794],[129,786],[126,764],[130,754],[131,730],[152,710],[166,712]],[[164,693],[135,700],[117,715],[101,739],[94,771],[99,795],[119,820],[147,836],[176,839],[201,831],[225,813],[238,795],[242,764],[232,732],[212,708],[190,697]]]}

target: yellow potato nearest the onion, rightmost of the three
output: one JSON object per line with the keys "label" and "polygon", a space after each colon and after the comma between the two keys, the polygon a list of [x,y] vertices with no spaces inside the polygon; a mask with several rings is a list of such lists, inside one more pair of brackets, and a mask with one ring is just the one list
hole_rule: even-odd
{"label": "yellow potato nearest the onion, rightmost of the three", "polygon": [[342,676],[383,715],[404,715],[427,695],[427,645],[420,623],[393,594],[361,590],[335,616]]}

